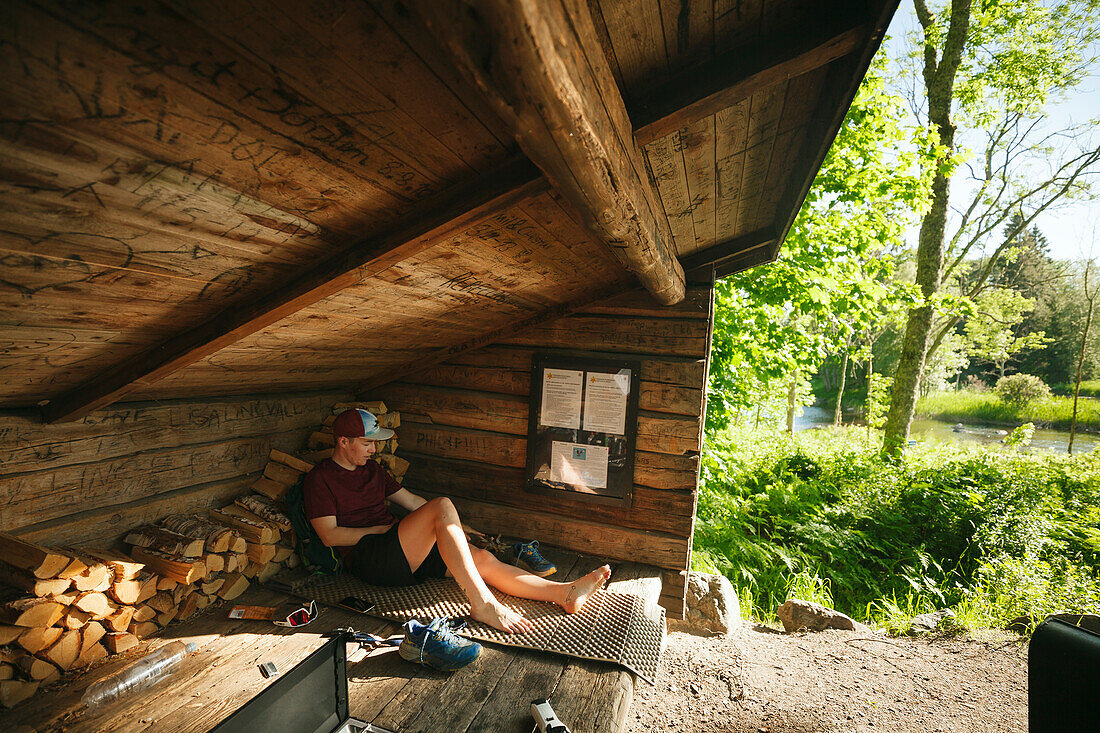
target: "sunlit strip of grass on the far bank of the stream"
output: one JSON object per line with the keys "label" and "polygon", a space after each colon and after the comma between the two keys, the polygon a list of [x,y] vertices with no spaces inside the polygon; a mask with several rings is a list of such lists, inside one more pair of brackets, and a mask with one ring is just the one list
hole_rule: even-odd
{"label": "sunlit strip of grass on the far bank of the stream", "polygon": [[[1015,426],[1034,423],[1036,427],[1068,430],[1074,398],[1052,396],[1024,407],[1007,404],[992,392],[935,392],[921,397],[916,414],[947,423],[987,423]],[[1100,401],[1079,400],[1077,426],[1100,430]]]}

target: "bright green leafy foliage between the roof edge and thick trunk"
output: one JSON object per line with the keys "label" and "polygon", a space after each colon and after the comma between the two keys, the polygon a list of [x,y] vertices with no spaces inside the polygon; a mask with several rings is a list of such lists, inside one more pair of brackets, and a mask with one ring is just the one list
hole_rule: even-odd
{"label": "bright green leafy foliage between the roof edge and thick trunk", "polygon": [[[927,188],[915,164],[922,131],[887,92],[882,63],[864,80],[779,259],[716,287],[707,429],[755,412],[869,328],[906,295],[892,252]],[[802,391],[809,394],[809,390]]]}

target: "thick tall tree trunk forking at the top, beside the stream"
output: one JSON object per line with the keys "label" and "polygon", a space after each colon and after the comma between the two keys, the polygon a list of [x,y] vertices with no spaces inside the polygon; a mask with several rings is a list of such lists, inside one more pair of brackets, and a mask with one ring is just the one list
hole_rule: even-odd
{"label": "thick tall tree trunk forking at the top, beside the stream", "polygon": [[955,74],[966,45],[970,26],[970,0],[952,2],[950,26],[944,39],[944,48],[936,59],[935,22],[923,0],[914,2],[917,19],[924,28],[924,86],[928,100],[928,120],[936,128],[939,149],[936,173],[932,182],[932,205],[921,221],[921,234],[916,247],[916,284],[921,288],[924,304],[909,311],[905,338],[902,342],[901,360],[894,374],[893,392],[890,396],[890,412],[887,415],[886,431],[882,437],[882,455],[897,457],[909,442],[909,428],[913,422],[916,393],[921,386],[924,360],[928,351],[932,332],[932,298],[939,289],[939,276],[944,261],[944,230],[947,223],[947,207],[950,188],[950,158],[955,154],[955,125],[950,119],[952,99],[955,90]]}

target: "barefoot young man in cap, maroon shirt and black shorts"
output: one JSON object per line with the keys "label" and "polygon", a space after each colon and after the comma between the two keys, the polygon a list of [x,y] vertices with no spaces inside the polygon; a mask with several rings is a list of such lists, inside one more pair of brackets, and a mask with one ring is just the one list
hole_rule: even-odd
{"label": "barefoot young man in cap, maroon shirt and black shorts", "polygon": [[[306,516],[318,537],[341,555],[344,567],[373,586],[411,586],[428,578],[454,578],[470,599],[471,617],[509,633],[530,622],[506,608],[488,586],[510,595],[552,601],[575,613],[610,577],[606,565],[571,583],[535,576],[471,547],[451,500],[425,501],[403,488],[375,461],[375,441],[394,431],[365,409],[349,409],[332,424],[336,447],[306,475]],[[410,513],[398,522],[385,500]]]}

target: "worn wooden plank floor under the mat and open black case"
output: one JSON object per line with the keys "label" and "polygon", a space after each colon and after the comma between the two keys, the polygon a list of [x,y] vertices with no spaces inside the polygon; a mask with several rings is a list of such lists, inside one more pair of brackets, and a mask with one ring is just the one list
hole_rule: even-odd
{"label": "worn wooden plank floor under the mat and open black case", "polygon": [[[553,579],[559,580],[576,578],[602,562],[551,548],[546,548],[544,555],[558,566]],[[658,570],[632,564],[612,567],[610,590],[636,592],[656,608]],[[234,604],[274,605],[284,600],[279,593],[254,588],[232,604],[211,606],[195,619],[172,624],[160,637],[123,658],[113,658],[38,692],[14,710],[0,712],[0,730],[207,731],[274,681],[261,676],[258,664],[272,661],[286,671],[323,644],[324,632],[339,626],[380,635],[399,633],[389,622],[330,608],[323,608],[316,621],[297,631],[227,619]],[[197,643],[199,650],[175,676],[108,708],[80,710],[80,696],[89,685],[176,638]],[[620,731],[635,686],[634,675],[617,665],[492,644],[485,645],[475,664],[453,674],[407,663],[392,647],[376,650],[349,664],[348,678],[351,714],[399,733],[528,733],[534,725],[530,702],[543,697],[574,733]]]}

